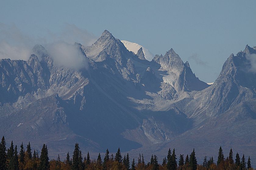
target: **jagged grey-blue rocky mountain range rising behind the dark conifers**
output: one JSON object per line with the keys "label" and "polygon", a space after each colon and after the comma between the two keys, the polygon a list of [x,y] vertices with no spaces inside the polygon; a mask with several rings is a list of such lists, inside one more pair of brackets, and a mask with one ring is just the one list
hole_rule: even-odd
{"label": "jagged grey-blue rocky mountain range rising behind the dark conifers", "polygon": [[[250,155],[256,165],[256,47],[231,54],[212,85],[199,80],[171,48],[135,54],[105,30],[91,46],[74,43],[83,68],[55,62],[42,45],[29,60],[0,60],[0,131],[7,143],[28,143],[63,158],[82,151],[166,156],[195,148],[197,158]],[[61,146],[61,147],[60,147]],[[215,157],[216,160],[216,157]]]}

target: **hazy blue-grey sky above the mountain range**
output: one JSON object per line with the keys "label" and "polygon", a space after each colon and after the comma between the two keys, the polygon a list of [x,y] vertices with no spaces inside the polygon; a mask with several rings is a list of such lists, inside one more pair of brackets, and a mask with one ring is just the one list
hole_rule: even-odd
{"label": "hazy blue-grey sky above the mountain range", "polygon": [[214,82],[231,53],[256,46],[256,1],[10,0],[0,2],[1,27],[5,40],[20,37],[8,42],[17,48],[53,40],[91,44],[107,29],[153,54],[173,48],[197,77]]}

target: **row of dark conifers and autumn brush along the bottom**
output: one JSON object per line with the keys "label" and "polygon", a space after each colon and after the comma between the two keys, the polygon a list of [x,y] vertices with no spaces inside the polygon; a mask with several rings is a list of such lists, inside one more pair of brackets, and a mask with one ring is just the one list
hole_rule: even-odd
{"label": "row of dark conifers and autumn brush along the bottom", "polygon": [[156,155],[151,156],[151,160],[145,163],[143,154],[139,154],[139,157],[135,163],[134,158],[130,164],[129,154],[122,157],[120,149],[118,148],[116,155],[109,154],[108,149],[106,150],[104,159],[101,159],[101,154],[99,153],[97,160],[90,159],[89,152],[87,156],[83,158],[82,151],[78,143],[75,144],[75,149],[73,151],[73,156],[70,158],[69,152],[66,155],[65,161],[60,161],[60,158],[52,159],[49,161],[48,148],[47,145],[43,144],[41,149],[41,155],[39,157],[38,151],[34,150],[32,155],[32,150],[30,142],[27,145],[27,151],[25,151],[23,143],[20,145],[20,152],[18,153],[17,145],[14,147],[13,142],[11,146],[6,149],[6,142],[4,136],[0,143],[0,169],[1,170],[177,170],[177,169],[188,169],[188,170],[253,170],[251,167],[250,156],[246,162],[244,154],[240,160],[240,156],[236,153],[235,161],[233,159],[233,151],[230,149],[229,156],[224,158],[222,148],[219,148],[218,160],[213,160],[211,157],[207,160],[204,157],[203,164],[197,164],[197,158],[195,155],[195,150],[191,152],[184,158],[183,154],[180,154],[179,161],[177,162],[177,157],[175,154],[175,149],[167,152],[167,157],[162,161],[162,164],[158,163],[158,157]]}

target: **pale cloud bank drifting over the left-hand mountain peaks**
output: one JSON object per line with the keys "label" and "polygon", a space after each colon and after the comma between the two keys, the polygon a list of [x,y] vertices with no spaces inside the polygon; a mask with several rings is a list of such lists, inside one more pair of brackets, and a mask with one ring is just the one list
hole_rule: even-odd
{"label": "pale cloud bank drifting over the left-hand mountain peaks", "polygon": [[93,34],[73,24],[64,24],[59,33],[48,31],[44,37],[34,38],[22,33],[15,25],[0,23],[0,59],[28,60],[34,45],[42,44],[55,64],[80,69],[87,66],[87,59],[74,43],[89,46],[95,40]]}

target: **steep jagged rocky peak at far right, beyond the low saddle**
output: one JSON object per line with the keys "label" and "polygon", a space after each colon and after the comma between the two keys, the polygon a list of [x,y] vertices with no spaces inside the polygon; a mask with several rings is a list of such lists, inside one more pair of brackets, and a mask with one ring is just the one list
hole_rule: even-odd
{"label": "steep jagged rocky peak at far right, beyond the low saddle", "polygon": [[205,113],[216,116],[232,106],[239,105],[241,101],[255,98],[256,72],[251,65],[256,60],[255,54],[256,51],[248,45],[236,56],[230,54],[219,77],[202,95],[204,97],[200,105],[204,107],[198,109],[198,113],[206,108]]}

